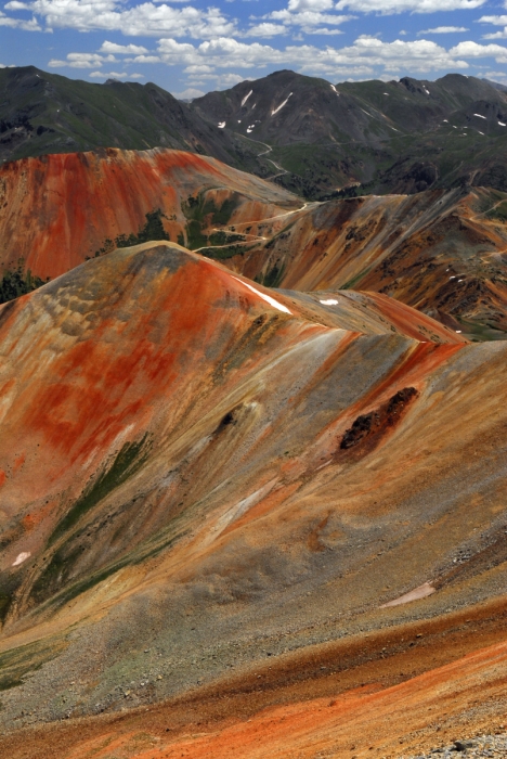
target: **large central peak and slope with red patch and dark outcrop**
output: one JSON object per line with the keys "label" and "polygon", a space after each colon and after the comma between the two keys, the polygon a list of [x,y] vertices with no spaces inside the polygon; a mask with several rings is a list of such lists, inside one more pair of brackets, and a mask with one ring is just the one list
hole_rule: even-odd
{"label": "large central peak and slope with red patch and dark outcrop", "polygon": [[504,592],[506,347],[300,303],[160,243],[1,309],[4,725]]}

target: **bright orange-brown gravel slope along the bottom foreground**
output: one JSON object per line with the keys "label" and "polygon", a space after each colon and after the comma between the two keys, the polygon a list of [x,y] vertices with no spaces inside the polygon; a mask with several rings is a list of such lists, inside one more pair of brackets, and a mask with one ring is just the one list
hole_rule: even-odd
{"label": "bright orange-brown gravel slope along the bottom foreground", "polygon": [[[466,620],[454,614],[285,656],[184,698],[24,730],[0,756],[399,757],[495,732],[507,705],[506,614],[504,600]],[[478,641],[487,647],[476,652]]]}

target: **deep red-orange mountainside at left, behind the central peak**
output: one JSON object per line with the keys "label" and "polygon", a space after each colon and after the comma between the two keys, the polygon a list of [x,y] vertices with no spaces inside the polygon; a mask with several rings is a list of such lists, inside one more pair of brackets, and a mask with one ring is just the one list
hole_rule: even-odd
{"label": "deep red-orange mountainside at left, behind the central peak", "polygon": [[107,149],[25,158],[0,167],[0,266],[20,258],[32,274],[55,278],[93,256],[105,240],[136,234],[160,208],[172,241],[185,232],[182,202],[203,193],[229,221],[259,220],[302,202],[258,177],[195,153]]}

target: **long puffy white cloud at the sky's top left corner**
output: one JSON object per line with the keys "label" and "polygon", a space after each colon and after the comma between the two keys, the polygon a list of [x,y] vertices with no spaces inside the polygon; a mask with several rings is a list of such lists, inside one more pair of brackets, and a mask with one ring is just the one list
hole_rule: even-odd
{"label": "long puffy white cloud at the sky's top left corner", "polygon": [[[166,3],[153,2],[126,8],[121,0],[11,0],[5,9],[31,11],[36,16],[43,17],[47,27],[51,29],[119,30],[129,36],[153,37],[166,33],[172,37],[194,39],[211,39],[232,35],[236,30],[234,22],[227,21],[217,8],[199,10],[187,5],[176,9]],[[22,23],[13,18],[5,21],[10,25],[14,22]]]}

